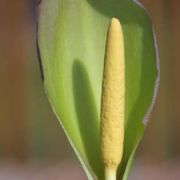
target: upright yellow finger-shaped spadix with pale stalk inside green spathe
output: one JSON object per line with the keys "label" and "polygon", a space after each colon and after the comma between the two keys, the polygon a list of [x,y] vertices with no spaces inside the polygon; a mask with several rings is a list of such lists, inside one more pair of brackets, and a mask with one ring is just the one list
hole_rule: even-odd
{"label": "upright yellow finger-shaped spadix with pale stalk inside green spathe", "polygon": [[124,41],[116,18],[107,33],[101,98],[101,156],[105,179],[115,180],[123,154],[125,112]]}

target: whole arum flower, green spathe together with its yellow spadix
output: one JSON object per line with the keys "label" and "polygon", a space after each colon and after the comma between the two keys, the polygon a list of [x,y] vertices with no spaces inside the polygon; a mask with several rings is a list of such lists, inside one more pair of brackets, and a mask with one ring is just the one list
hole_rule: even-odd
{"label": "whole arum flower, green spathe together with its yellow spadix", "polygon": [[126,180],[158,84],[145,10],[131,0],[42,0],[38,46],[47,97],[87,178]]}

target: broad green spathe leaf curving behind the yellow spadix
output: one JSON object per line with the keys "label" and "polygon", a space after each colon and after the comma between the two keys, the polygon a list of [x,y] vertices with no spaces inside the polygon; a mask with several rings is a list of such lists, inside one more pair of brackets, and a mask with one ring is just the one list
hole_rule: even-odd
{"label": "broad green spathe leaf curving behind the yellow spadix", "polygon": [[125,41],[125,140],[118,179],[127,179],[157,78],[151,21],[130,0],[43,0],[38,44],[44,86],[88,179],[104,179],[99,125],[109,21],[117,17]]}

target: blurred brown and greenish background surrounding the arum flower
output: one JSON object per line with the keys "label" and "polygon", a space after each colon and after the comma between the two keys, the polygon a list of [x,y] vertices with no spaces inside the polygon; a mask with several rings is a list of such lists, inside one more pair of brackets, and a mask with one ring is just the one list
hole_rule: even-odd
{"label": "blurred brown and greenish background surrounding the arum flower", "polygon": [[[180,179],[180,1],[142,0],[157,34],[161,83],[130,180]],[[85,180],[44,94],[35,0],[0,0],[0,180]]]}

